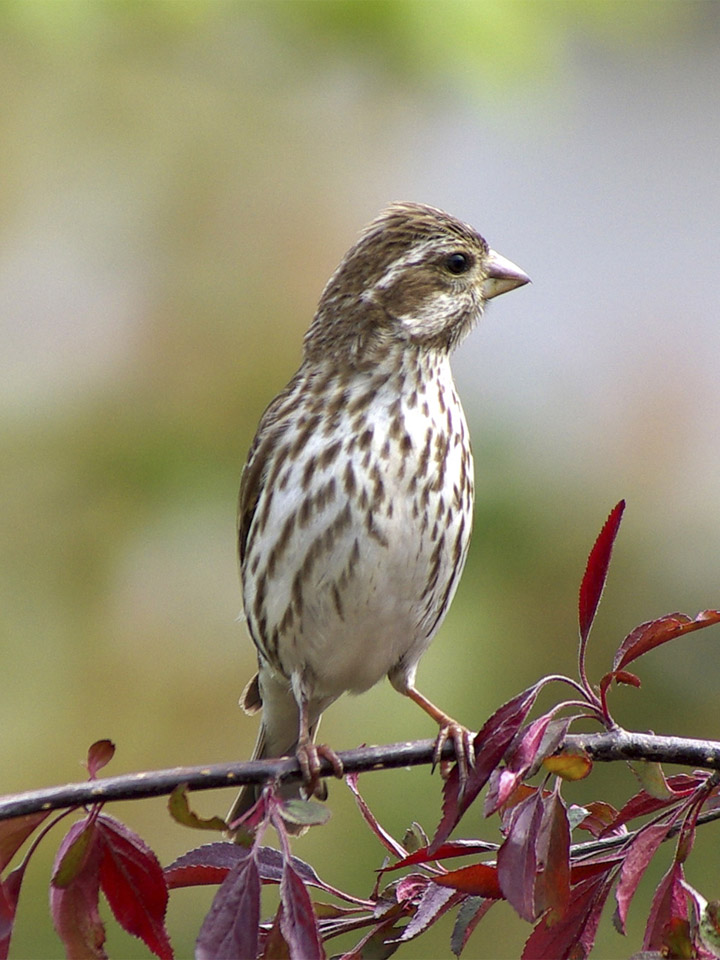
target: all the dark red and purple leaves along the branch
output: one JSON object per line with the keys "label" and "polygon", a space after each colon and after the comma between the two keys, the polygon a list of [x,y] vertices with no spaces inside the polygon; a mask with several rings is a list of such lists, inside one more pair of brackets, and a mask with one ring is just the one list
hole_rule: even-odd
{"label": "all the dark red and purple leaves along the branch", "polygon": [[[706,610],[695,618],[673,613],[643,623],[621,642],[599,683],[590,682],[587,645],[623,510],[621,501],[608,517],[581,583],[578,678],[544,677],[495,711],[474,738],[475,763],[467,779],[461,779],[457,765],[450,771],[432,837],[413,823],[402,842],[396,840],[362,797],[357,773],[346,776],[362,819],[385,850],[366,897],[333,887],[292,855],[289,835],[321,825],[329,813],[312,801],[283,800],[278,776],[267,780],[256,805],[231,825],[219,817],[199,817],[190,808],[186,786],[177,787],[169,801],[176,821],[200,830],[230,826],[242,842],[204,844],[165,870],[145,842],[104,813],[104,802],[98,801],[86,806],[69,828],[52,872],[52,920],[67,956],[106,956],[98,911],[102,892],[123,929],[157,957],[171,958],[165,927],[169,892],[217,884],[197,939],[199,960],[323,958],[328,944],[340,935],[354,936],[354,946],[338,954],[344,960],[389,957],[449,911],[455,914],[450,948],[460,956],[475,928],[501,900],[532,925],[523,960],[582,958],[593,948],[613,891],[613,920],[619,933],[625,933],[638,885],[670,840],[672,860],[653,895],[636,956],[720,956],[719,903],[708,903],[685,876],[698,824],[720,816],[720,771],[666,777],[659,763],[636,763],[640,790],[620,809],[604,800],[581,806],[563,795],[593,766],[590,751],[569,735],[572,724],[590,719],[610,737],[620,738],[625,732],[610,712],[609,693],[616,684],[640,686],[628,666],[661,644],[720,622],[720,611]],[[570,698],[531,719],[540,691],[558,682],[571,689]],[[91,783],[113,753],[109,741],[90,748]],[[485,817],[498,818],[497,841],[451,839],[482,791]],[[38,809],[0,825],[0,960],[8,956],[28,862],[40,841],[73,809],[78,808],[49,821],[50,811]],[[279,849],[263,843],[270,827]],[[578,840],[578,832],[591,839]],[[5,873],[33,834],[20,864]],[[458,858],[464,858],[460,866],[455,865]],[[279,903],[274,915],[263,919],[262,891],[270,886],[278,889]]]}

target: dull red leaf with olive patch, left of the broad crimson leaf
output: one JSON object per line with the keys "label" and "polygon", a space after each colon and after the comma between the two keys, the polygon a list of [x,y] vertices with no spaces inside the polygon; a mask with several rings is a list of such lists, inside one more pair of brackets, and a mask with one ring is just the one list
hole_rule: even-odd
{"label": "dull red leaf with olive patch, left of the broad crimson leaf", "polygon": [[[82,851],[82,862],[77,868],[68,869],[68,852],[80,837],[88,838],[80,841],[81,845],[87,844]],[[73,960],[105,960],[107,956],[103,949],[105,927],[98,912],[103,846],[101,835],[88,830],[87,820],[79,820],[68,830],[55,857],[50,912],[65,953]],[[55,877],[63,873],[67,875],[67,883],[58,887]]]}

